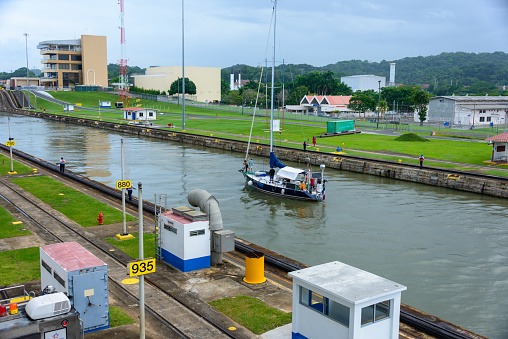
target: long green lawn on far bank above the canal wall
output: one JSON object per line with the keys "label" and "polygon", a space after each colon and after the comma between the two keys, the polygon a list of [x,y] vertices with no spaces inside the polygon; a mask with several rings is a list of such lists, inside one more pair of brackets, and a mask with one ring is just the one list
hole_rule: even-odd
{"label": "long green lawn on far bank above the canal wall", "polygon": [[[118,101],[116,95],[102,92],[51,92],[51,94],[62,101],[70,103],[82,103],[86,107],[98,108],[99,100],[109,100],[112,102]],[[52,107],[51,103],[39,99],[38,105],[44,107],[48,104]],[[162,114],[159,113],[155,124],[167,128],[167,124],[171,123],[175,127],[175,131],[181,129],[182,126],[182,107],[175,104],[154,102],[150,100],[132,100],[131,104],[140,104],[142,107],[155,107],[161,109]],[[127,123],[123,120],[120,110],[117,112],[62,112],[60,114],[68,114],[72,116],[100,118],[104,121],[115,121]],[[186,106],[186,115],[188,118],[185,121],[185,130],[188,133],[198,135],[214,136],[233,138],[237,140],[248,140],[252,118],[249,115],[241,113],[217,111],[207,108],[199,108],[193,106]],[[256,117],[253,130],[252,141],[268,144],[270,138],[268,130],[268,120],[265,116],[265,111],[259,111],[260,116]],[[301,116],[301,115],[300,115]],[[367,124],[367,122],[362,122]],[[375,127],[375,123],[371,123]],[[416,127],[416,126],[414,126]],[[283,131],[281,134],[274,134],[274,144],[276,146],[293,147],[297,149],[302,148],[304,140],[312,140],[313,136],[319,136],[326,132],[324,122],[302,121],[298,119],[285,118],[282,124]],[[488,132],[485,129],[484,132]],[[418,133],[425,135],[426,133]],[[485,165],[483,161],[489,160],[492,153],[492,147],[486,142],[467,142],[458,138],[450,137],[446,140],[432,139],[430,142],[405,142],[395,140],[396,136],[377,135],[377,134],[354,134],[343,135],[328,138],[317,138],[317,148],[321,152],[333,152],[337,147],[344,148],[347,154],[361,155],[367,158],[379,158],[398,161],[399,159],[405,163],[418,163],[418,156],[423,153],[426,159],[436,159],[443,161],[452,161],[471,165]],[[309,142],[310,143],[310,142]],[[312,147],[309,150],[316,150]],[[391,152],[393,154],[380,155],[372,154],[363,151],[371,152]],[[403,158],[401,156],[405,156]],[[425,164],[430,165],[431,161]],[[452,168],[453,164],[444,164],[437,161],[432,162],[432,166]],[[497,171],[503,172],[503,171]]]}

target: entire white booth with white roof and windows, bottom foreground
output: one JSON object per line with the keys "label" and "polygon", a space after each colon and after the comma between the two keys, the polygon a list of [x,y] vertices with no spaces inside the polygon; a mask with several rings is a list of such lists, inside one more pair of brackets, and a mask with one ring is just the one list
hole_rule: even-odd
{"label": "entire white booth with white roof and windows, bottom foreground", "polygon": [[289,275],[292,338],[399,338],[405,286],[339,261]]}

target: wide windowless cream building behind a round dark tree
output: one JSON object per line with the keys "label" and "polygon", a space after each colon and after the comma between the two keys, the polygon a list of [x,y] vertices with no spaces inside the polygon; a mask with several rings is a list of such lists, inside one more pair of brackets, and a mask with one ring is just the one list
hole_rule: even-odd
{"label": "wide windowless cream building behind a round dark tree", "polygon": [[[134,86],[168,92],[171,84],[182,77],[181,66],[150,67],[144,75],[133,75]],[[185,77],[196,85],[196,100],[221,100],[220,68],[185,67]]]}

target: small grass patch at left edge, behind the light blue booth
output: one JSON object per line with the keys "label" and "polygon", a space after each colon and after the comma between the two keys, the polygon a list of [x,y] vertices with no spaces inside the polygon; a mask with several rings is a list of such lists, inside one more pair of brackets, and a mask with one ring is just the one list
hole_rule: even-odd
{"label": "small grass patch at left edge, behind the light blue booth", "polygon": [[19,284],[41,277],[39,247],[0,252],[0,262],[0,285]]}

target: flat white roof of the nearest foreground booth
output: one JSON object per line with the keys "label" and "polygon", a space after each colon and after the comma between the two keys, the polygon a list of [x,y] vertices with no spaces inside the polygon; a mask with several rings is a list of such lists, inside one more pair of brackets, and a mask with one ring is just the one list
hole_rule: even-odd
{"label": "flat white roof of the nearest foreground booth", "polygon": [[382,296],[405,291],[406,286],[339,261],[290,272],[294,281],[326,291],[340,300],[359,304]]}

